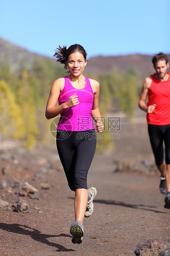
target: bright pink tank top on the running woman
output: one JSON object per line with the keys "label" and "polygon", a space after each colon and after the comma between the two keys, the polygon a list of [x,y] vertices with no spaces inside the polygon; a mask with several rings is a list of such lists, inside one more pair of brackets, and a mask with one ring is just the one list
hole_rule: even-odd
{"label": "bright pink tank top on the running woman", "polygon": [[83,131],[94,129],[91,110],[93,107],[93,90],[91,88],[90,81],[85,78],[85,86],[83,89],[75,89],[68,76],[65,76],[65,85],[58,97],[59,105],[63,104],[68,98],[75,94],[78,96],[79,104],[65,109],[61,113],[60,120],[58,122],[59,130],[66,131]]}

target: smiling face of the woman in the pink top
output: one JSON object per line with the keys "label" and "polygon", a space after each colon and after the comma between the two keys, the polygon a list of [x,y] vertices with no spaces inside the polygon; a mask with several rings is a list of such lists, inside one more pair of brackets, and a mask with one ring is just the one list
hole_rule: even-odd
{"label": "smiling face of the woman in the pink top", "polygon": [[73,76],[80,76],[83,73],[86,64],[87,59],[85,60],[84,56],[80,52],[70,54],[66,61],[66,65]]}

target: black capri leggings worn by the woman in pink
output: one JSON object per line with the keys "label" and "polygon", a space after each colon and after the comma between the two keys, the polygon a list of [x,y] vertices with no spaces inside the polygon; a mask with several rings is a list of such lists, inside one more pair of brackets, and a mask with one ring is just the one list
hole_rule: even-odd
{"label": "black capri leggings worn by the woman in pink", "polygon": [[87,189],[87,173],[96,147],[95,130],[57,130],[56,145],[70,189]]}

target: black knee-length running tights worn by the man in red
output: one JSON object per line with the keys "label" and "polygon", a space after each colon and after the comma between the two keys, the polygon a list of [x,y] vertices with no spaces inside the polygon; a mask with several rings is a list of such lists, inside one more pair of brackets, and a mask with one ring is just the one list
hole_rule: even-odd
{"label": "black knee-length running tights worn by the man in red", "polygon": [[156,126],[148,124],[149,138],[157,165],[163,164],[165,143],[165,162],[170,164],[170,125]]}

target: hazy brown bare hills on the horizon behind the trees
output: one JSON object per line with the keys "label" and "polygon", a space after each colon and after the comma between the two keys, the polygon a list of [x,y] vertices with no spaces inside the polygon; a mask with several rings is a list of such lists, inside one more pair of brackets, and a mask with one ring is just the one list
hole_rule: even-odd
{"label": "hazy brown bare hills on the horizon behind the trees", "polygon": [[[52,57],[49,58],[29,52],[28,50],[14,45],[2,38],[0,38],[0,53],[0,66],[4,61],[7,61],[12,71],[18,71],[21,63],[30,70],[35,58],[40,60],[48,58],[51,59],[52,62],[56,62],[56,59]],[[123,73],[126,73],[129,68],[133,67],[137,72],[137,76],[143,79],[145,76],[154,72],[151,58],[152,56],[140,54],[92,57],[88,59],[86,72],[88,74],[109,73],[110,71],[123,71]],[[56,63],[56,66],[57,65],[58,63]]]}

